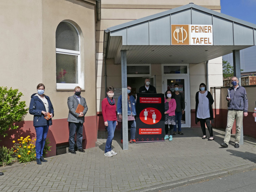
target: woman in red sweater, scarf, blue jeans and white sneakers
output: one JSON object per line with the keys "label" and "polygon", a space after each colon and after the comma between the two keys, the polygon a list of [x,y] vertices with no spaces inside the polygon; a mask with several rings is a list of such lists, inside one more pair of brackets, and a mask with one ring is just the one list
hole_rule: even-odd
{"label": "woman in red sweater, scarf, blue jeans and white sneakers", "polygon": [[114,132],[117,126],[116,104],[113,96],[114,96],[114,87],[110,86],[107,88],[107,97],[104,98],[101,102],[104,125],[108,131],[108,138],[106,141],[104,155],[108,157],[111,157],[117,154],[111,149]]}

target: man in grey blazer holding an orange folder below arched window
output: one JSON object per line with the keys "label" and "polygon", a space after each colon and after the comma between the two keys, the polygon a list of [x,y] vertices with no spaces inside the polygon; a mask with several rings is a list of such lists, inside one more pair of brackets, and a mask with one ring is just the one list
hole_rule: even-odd
{"label": "man in grey blazer holding an orange folder below arched window", "polygon": [[[75,87],[74,95],[68,98],[68,107],[69,107],[69,152],[76,154],[75,146],[75,133],[76,133],[76,145],[77,151],[85,152],[82,147],[83,140],[83,123],[84,116],[88,110],[85,98],[81,97],[81,88]],[[78,104],[81,104],[84,107],[83,112],[76,113]]]}

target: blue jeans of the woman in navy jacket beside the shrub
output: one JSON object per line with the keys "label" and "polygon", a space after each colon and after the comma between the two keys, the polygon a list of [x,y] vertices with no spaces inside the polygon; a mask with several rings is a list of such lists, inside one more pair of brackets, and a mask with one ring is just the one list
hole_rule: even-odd
{"label": "blue jeans of the woman in navy jacket beside the shrub", "polygon": [[36,158],[40,159],[43,156],[44,144],[46,140],[46,136],[48,133],[48,125],[45,126],[35,126],[37,140],[36,140]]}

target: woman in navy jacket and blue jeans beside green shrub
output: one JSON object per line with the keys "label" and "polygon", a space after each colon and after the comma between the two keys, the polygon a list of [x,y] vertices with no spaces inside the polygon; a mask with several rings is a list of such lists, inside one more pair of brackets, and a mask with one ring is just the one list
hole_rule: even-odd
{"label": "woman in navy jacket and blue jeans beside green shrub", "polygon": [[[37,93],[31,95],[31,101],[29,105],[29,113],[34,115],[33,126],[36,129],[36,160],[37,164],[41,165],[41,162],[47,162],[43,158],[43,149],[46,140],[48,128],[52,125],[52,117],[54,116],[53,106],[48,96],[44,95],[45,86],[43,83],[37,85]],[[46,120],[47,113],[50,114],[49,120]]]}

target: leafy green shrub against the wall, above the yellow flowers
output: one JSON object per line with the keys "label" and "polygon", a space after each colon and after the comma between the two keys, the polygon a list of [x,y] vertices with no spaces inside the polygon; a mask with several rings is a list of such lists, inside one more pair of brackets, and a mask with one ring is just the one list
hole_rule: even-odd
{"label": "leafy green shrub against the wall, above the yellow flowers", "polygon": [[9,129],[17,129],[14,122],[19,122],[27,114],[25,101],[20,101],[23,95],[18,89],[9,90],[7,87],[0,87],[0,134],[4,137]]}

